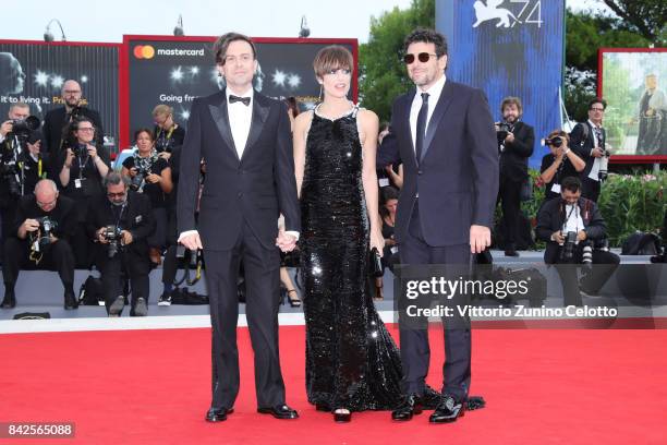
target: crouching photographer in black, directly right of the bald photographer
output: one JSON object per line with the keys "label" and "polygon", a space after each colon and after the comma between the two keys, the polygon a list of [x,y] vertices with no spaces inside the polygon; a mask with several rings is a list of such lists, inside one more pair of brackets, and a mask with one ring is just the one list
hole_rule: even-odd
{"label": "crouching photographer in black, directly right of the bald photographer", "polygon": [[131,316],[148,313],[147,237],[155,229],[148,197],[130,191],[130,179],[112,171],[105,178],[106,197],[92,205],[88,233],[99,243],[97,264],[105,287],[109,316],[119,316],[125,304],[123,272],[132,287]]}

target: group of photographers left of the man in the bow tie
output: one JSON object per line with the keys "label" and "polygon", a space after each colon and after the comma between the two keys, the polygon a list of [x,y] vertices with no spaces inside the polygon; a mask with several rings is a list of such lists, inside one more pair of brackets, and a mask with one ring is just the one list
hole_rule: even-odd
{"label": "group of photographers left of the man in the bow tie", "polygon": [[24,103],[12,104],[0,127],[1,306],[16,305],[21,269],[46,268],[62,280],[64,308],[75,309],[74,269],[97,268],[110,316],[123,311],[128,282],[131,315],[146,315],[148,274],[162,255],[160,304],[170,303],[175,278],[174,196],[185,133],[171,108],[158,105],[155,127],[136,131],[135,148],[113,168],[100,116],[82,97],[81,85],[66,81],[64,106],[50,110],[44,127]]}

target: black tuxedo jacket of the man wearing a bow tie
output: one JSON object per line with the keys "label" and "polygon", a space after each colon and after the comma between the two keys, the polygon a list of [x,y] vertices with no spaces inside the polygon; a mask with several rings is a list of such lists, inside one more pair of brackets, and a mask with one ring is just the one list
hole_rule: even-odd
{"label": "black tuxedo jacket of the man wearing a bow tie", "polygon": [[[262,244],[272,249],[280,213],[286,230],[301,230],[287,107],[257,92],[252,107],[251,129],[239,159],[226,92],[192,104],[180,156],[177,218],[179,233],[197,229],[204,249],[231,249],[244,220]],[[201,159],[206,161],[206,181],[197,227],[194,214]]]}

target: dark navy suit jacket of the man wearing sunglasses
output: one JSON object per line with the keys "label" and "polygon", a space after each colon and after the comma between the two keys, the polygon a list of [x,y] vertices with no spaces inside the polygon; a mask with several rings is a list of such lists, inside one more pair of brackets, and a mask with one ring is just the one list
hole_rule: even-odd
{"label": "dark navy suit jacket of the man wearing sunglasses", "polygon": [[464,244],[470,226],[492,227],[498,195],[498,144],[482,91],[446,81],[426,129],[417,163],[410,130],[416,89],[393,103],[391,133],[378,152],[378,167],[403,163],[396,238],[405,238],[417,200],[422,233],[432,246]]}

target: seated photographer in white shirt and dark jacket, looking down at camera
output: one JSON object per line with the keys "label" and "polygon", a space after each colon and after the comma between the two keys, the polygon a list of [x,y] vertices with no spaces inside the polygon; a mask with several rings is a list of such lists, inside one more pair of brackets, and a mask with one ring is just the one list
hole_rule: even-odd
{"label": "seated photographer in white shirt and dark jacket, looking down at camera", "polygon": [[[581,197],[581,181],[568,177],[561,182],[560,199],[544,203],[537,213],[537,239],[546,241],[546,264],[608,264],[592,269],[585,287],[587,293],[596,293],[620,263],[618,255],[604,249],[595,249],[596,241],[606,236],[606,225],[597,205]],[[577,269],[573,266],[557,267],[562,280],[566,305],[581,305]],[[584,281],[582,280],[582,285]]]}

